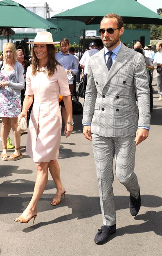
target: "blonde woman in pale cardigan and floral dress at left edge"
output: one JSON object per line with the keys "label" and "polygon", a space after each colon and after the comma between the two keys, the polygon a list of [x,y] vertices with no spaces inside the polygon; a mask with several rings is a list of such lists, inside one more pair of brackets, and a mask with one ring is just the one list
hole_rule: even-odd
{"label": "blonde woman in pale cardigan and floral dress at left edge", "polygon": [[[22,158],[20,134],[17,132],[17,117],[21,113],[20,90],[24,88],[23,66],[16,60],[16,48],[12,43],[3,47],[4,65],[0,70],[0,116],[2,117],[1,138],[3,151],[1,159],[15,161]],[[7,154],[7,131],[11,125],[15,151]]]}

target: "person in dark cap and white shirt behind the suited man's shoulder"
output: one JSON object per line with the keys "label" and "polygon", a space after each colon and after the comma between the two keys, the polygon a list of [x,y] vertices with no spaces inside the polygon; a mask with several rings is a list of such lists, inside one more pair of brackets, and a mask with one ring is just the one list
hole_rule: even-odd
{"label": "person in dark cap and white shirt behind the suited man's shoulder", "polygon": [[79,64],[82,69],[81,78],[84,79],[84,91],[86,90],[87,86],[88,60],[92,55],[98,53],[98,51],[100,51],[103,48],[102,40],[95,39],[94,42],[90,43],[90,47],[92,47],[92,49],[85,51],[85,53],[83,53],[83,56],[81,57],[81,60],[79,61]]}

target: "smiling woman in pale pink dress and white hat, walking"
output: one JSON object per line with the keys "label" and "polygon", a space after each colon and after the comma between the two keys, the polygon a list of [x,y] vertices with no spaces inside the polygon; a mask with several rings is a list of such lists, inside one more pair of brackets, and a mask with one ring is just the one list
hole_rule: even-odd
{"label": "smiling woman in pale pink dress and white hat, walking", "polygon": [[[17,222],[27,223],[36,218],[36,206],[45,190],[48,168],[56,184],[56,196],[51,204],[57,205],[65,189],[61,183],[58,153],[61,140],[61,111],[58,104],[59,94],[63,95],[68,113],[66,131],[70,136],[73,129],[72,101],[64,68],[55,59],[55,48],[50,32],[38,32],[34,42],[32,65],[27,69],[26,91],[21,117],[27,119],[27,111],[34,98],[30,115],[26,153],[36,163],[37,178],[32,199]],[[21,118],[20,117],[20,118]],[[34,221],[33,221],[34,223]]]}

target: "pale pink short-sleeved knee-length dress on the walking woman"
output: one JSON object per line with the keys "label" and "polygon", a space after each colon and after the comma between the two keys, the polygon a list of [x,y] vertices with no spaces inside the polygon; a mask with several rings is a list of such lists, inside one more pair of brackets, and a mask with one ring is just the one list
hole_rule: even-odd
{"label": "pale pink short-sleeved knee-length dress on the walking woman", "polygon": [[62,66],[47,78],[45,72],[32,76],[32,66],[27,68],[25,95],[34,95],[34,105],[29,120],[26,153],[34,162],[58,159],[62,118],[58,95],[70,95],[67,75]]}

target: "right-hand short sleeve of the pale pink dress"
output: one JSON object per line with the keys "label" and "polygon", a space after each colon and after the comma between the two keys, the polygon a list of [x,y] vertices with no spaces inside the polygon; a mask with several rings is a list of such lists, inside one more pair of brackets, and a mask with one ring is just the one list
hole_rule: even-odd
{"label": "right-hand short sleeve of the pale pink dress", "polygon": [[62,66],[58,65],[57,73],[58,73],[58,85],[60,87],[59,93],[63,96],[71,95],[65,69]]}

